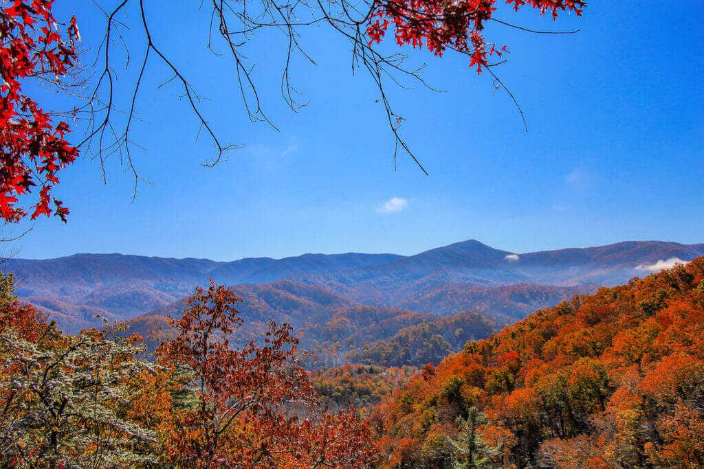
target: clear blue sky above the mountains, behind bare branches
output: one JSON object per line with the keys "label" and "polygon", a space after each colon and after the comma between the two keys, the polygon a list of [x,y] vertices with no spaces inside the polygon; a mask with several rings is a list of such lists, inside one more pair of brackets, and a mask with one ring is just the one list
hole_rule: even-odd
{"label": "clear blue sky above the mountains, behind bare branches", "polygon": [[[68,3],[77,6],[90,63],[103,18],[90,1]],[[295,64],[294,83],[311,100],[297,114],[279,93],[281,37],[263,34],[253,45],[253,75],[280,130],[249,122],[232,63],[206,52],[208,12],[198,3],[151,8],[155,40],[210,98],[203,113],[222,139],[246,146],[201,167],[212,147],[196,141],[177,86],[156,91],[169,75],[155,61],[138,105],[144,122],[134,128],[147,148],[135,164],[151,185],[139,184],[132,203],[133,181],[117,160],[108,162],[108,185],[99,165],[81,160],[56,192],[70,207],[68,224],[38,221],[13,245],[20,257],[411,254],[467,238],[515,252],[704,242],[702,2],[590,2],[584,18],[557,23],[502,8],[499,18],[528,27],[581,30],[541,36],[487,27],[512,52],[497,72],[520,101],[527,133],[508,96],[465,58],[406,49],[409,63],[427,63],[426,79],[446,90],[389,84],[429,176],[405,156],[394,171],[378,94],[369,77],[351,74],[348,46],[325,28],[303,37],[318,66]],[[139,39],[135,31],[127,41]],[[133,73],[119,86],[126,90]]]}

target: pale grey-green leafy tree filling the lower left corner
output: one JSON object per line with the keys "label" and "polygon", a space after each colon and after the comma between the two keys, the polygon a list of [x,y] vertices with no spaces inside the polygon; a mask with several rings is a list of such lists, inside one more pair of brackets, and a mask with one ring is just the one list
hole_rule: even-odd
{"label": "pale grey-green leafy tree filling the lower left corner", "polygon": [[[0,465],[125,467],[156,462],[156,437],[131,422],[140,373],[156,367],[135,356],[132,338],[105,331],[61,333],[12,299],[0,276]],[[11,280],[11,278],[10,278]]]}

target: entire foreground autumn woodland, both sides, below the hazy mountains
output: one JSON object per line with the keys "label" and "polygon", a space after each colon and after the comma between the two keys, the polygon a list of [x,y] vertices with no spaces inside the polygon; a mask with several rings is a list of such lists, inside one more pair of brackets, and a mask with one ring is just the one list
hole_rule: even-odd
{"label": "entire foreground autumn woodland, both sides, below the hazy mountains", "polygon": [[241,299],[214,284],[145,360],[119,325],[62,333],[12,283],[0,295],[4,465],[704,464],[704,257],[536,311],[420,371],[311,374],[290,326],[273,322],[260,344],[234,347]]}

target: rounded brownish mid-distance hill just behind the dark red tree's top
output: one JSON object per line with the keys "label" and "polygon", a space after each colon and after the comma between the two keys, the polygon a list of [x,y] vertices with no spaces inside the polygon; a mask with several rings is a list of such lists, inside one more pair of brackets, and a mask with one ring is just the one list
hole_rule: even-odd
{"label": "rounded brownish mid-distance hill just behind the dark red tree's top", "polygon": [[[327,288],[294,281],[237,285],[234,292],[243,300],[236,306],[244,319],[231,338],[234,345],[262,338],[271,320],[285,322],[294,328],[301,349],[318,354],[316,366],[343,364],[344,354],[368,340],[389,338],[401,328],[436,318],[406,309],[365,306]],[[130,319],[128,332],[139,333],[149,347],[155,347],[170,334],[166,317],[180,316],[183,308],[180,300]],[[486,334],[477,331],[477,335]]]}

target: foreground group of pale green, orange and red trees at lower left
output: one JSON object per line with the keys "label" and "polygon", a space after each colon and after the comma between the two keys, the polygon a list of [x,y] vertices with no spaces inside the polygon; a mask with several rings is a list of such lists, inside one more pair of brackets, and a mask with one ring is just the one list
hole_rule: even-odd
{"label": "foreground group of pale green, orange and red trees at lower left", "polygon": [[287,325],[231,347],[232,290],[196,288],[153,361],[120,326],[68,335],[0,274],[4,468],[368,467],[356,409],[328,411]]}

